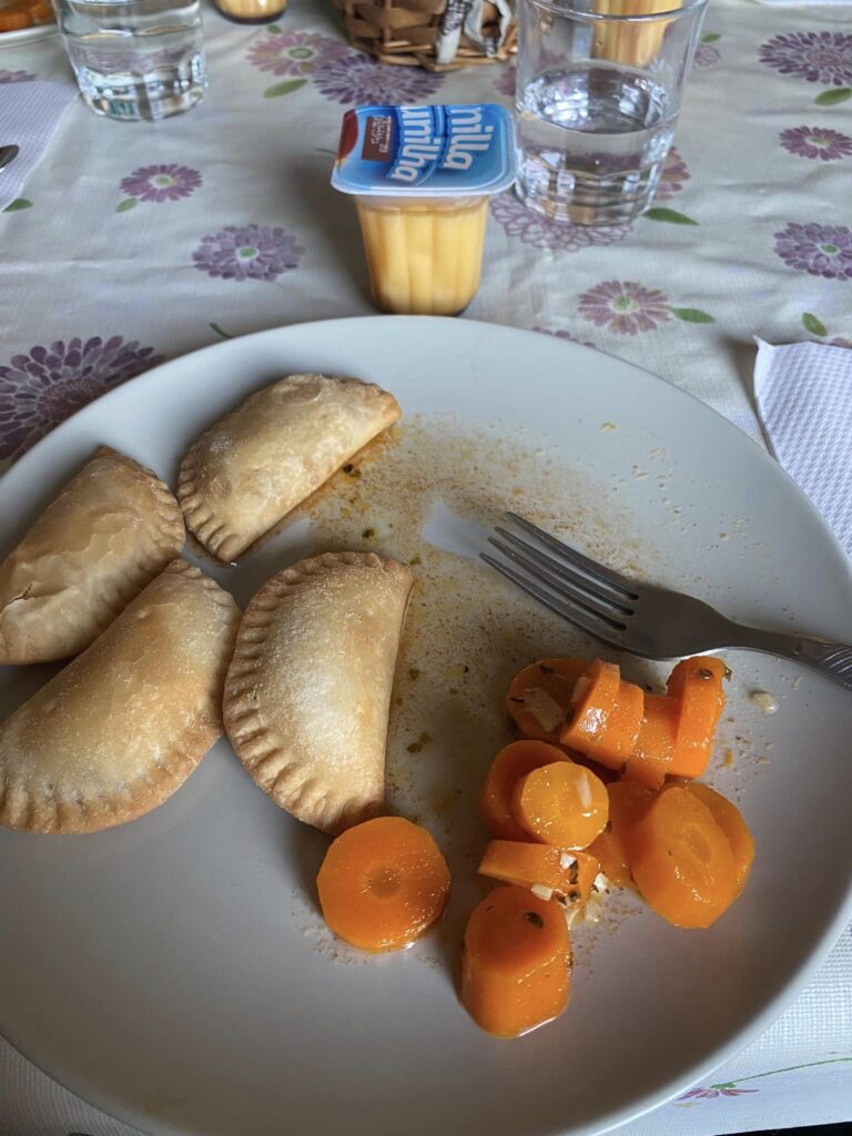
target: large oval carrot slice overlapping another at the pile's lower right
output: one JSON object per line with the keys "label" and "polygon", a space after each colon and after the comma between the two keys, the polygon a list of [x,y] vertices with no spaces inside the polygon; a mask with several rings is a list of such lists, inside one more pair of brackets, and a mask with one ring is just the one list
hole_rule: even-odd
{"label": "large oval carrot slice overlapping another at the pile's lower right", "polygon": [[682,785],[665,788],[630,828],[627,852],[643,897],[676,927],[709,927],[736,895],[730,842]]}

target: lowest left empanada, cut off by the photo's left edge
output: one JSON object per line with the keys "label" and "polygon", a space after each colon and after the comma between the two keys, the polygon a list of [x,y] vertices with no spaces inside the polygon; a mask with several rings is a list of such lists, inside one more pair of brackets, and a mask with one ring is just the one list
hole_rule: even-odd
{"label": "lowest left empanada, cut off by the photo's left edge", "polygon": [[173,561],[0,725],[0,824],[91,833],[162,804],[222,734],[239,623],[227,592]]}

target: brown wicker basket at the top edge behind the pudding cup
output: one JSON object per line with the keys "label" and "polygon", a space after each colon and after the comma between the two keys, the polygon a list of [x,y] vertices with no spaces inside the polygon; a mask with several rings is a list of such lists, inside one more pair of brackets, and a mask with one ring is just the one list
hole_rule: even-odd
{"label": "brown wicker basket at the top edge behind the pudding cup", "polygon": [[[436,42],[448,0],[334,0],[334,5],[343,12],[352,47],[368,51],[383,64],[457,70],[478,64],[506,62],[517,47],[517,27],[511,20],[493,53],[486,53],[481,44],[462,33],[452,62],[440,64]],[[500,39],[500,12],[487,0],[483,7],[481,33],[483,40],[492,44]]]}

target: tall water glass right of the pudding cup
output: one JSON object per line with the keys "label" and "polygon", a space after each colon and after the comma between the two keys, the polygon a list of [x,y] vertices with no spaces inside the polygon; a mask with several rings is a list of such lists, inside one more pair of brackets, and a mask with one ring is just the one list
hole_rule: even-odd
{"label": "tall water glass right of the pudding cup", "polygon": [[[518,0],[517,192],[556,222],[651,202],[707,0]],[[629,11],[630,15],[623,15]]]}

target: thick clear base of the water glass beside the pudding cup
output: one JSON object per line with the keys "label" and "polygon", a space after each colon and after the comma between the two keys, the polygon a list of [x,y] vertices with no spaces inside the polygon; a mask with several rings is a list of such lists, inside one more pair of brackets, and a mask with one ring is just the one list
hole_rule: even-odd
{"label": "thick clear base of the water glass beside the pudding cup", "polygon": [[624,225],[651,204],[662,164],[629,174],[546,174],[521,170],[515,191],[527,209],[559,225]]}

